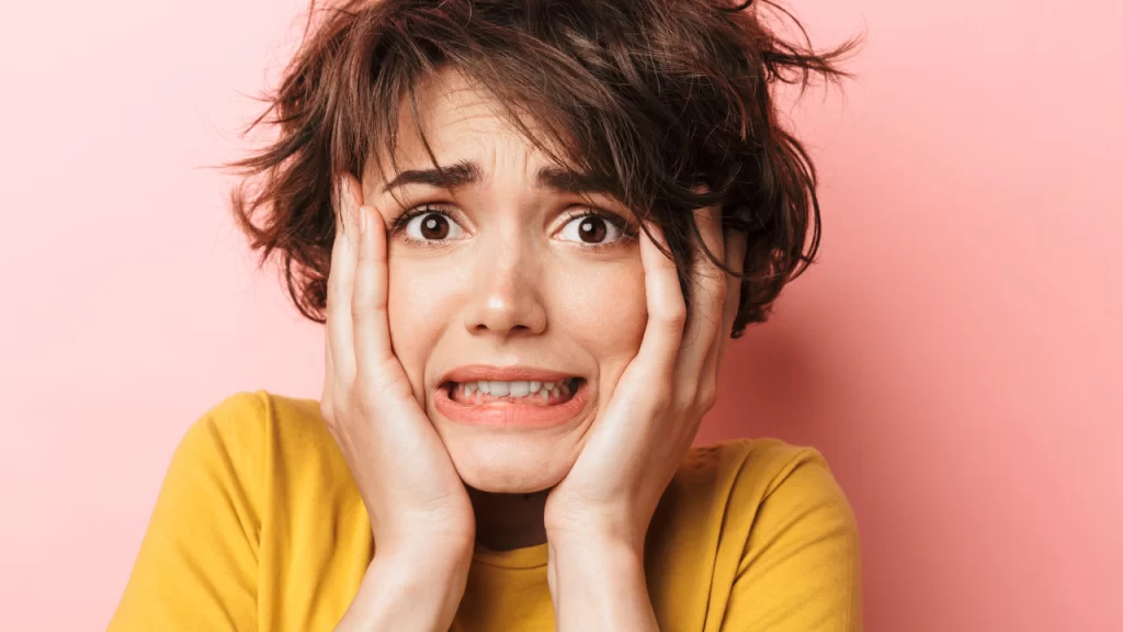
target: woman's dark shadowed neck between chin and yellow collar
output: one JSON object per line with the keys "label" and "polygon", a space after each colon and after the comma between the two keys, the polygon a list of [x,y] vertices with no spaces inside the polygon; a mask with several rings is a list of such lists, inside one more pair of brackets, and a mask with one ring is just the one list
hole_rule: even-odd
{"label": "woman's dark shadowed neck between chin and yellow collar", "polygon": [[476,515],[476,542],[492,551],[510,551],[546,542],[546,495],[493,494],[468,488]]}

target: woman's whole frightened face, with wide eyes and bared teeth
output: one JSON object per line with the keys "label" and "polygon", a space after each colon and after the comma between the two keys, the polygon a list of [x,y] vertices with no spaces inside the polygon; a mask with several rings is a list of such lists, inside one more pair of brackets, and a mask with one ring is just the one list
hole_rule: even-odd
{"label": "woman's whole frightened face, with wide eyes and bared teeth", "polygon": [[637,219],[583,191],[459,74],[432,76],[419,101],[454,186],[432,177],[408,119],[396,172],[372,169],[363,182],[389,232],[394,353],[466,484],[546,489],[639,350]]}

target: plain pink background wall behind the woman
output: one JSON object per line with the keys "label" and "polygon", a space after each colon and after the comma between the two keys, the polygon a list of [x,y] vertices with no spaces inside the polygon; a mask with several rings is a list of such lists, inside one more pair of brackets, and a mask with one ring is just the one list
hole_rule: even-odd
{"label": "plain pink background wall behind the woman", "polygon": [[[821,263],[736,344],[700,441],[819,446],[871,631],[1119,631],[1114,0],[789,1],[868,42],[792,115]],[[0,26],[0,594],[103,629],[168,458],[227,395],[314,397],[321,329],[200,169],[246,144],[304,0],[12,2]]]}

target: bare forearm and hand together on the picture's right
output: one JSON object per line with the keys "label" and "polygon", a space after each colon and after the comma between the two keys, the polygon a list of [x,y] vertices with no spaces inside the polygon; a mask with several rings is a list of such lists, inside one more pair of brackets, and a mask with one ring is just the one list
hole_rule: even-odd
{"label": "bare forearm and hand together on the picture's right", "polygon": [[[640,349],[577,462],[546,500],[547,577],[563,632],[658,630],[643,543],[659,498],[713,405],[724,332],[738,304],[736,278],[697,249],[691,270],[697,301],[687,317],[676,264],[659,249],[666,247],[663,231],[648,228],[650,235],[640,235],[648,310]],[[722,235],[718,207],[700,214],[699,228],[716,259],[743,258],[742,240]]]}

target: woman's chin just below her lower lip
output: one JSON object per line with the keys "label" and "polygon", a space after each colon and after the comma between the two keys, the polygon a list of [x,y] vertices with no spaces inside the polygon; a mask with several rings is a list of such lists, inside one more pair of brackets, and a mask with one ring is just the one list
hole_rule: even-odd
{"label": "woman's chin just below her lower lip", "polygon": [[446,428],[441,434],[460,479],[493,494],[549,489],[569,473],[578,453],[566,437],[535,436],[540,433]]}

